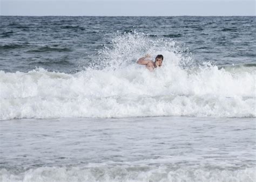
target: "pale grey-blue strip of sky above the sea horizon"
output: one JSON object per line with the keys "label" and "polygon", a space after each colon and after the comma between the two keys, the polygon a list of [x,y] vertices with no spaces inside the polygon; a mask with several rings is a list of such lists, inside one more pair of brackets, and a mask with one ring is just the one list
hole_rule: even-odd
{"label": "pale grey-blue strip of sky above the sea horizon", "polygon": [[0,0],[0,15],[255,16],[255,0]]}

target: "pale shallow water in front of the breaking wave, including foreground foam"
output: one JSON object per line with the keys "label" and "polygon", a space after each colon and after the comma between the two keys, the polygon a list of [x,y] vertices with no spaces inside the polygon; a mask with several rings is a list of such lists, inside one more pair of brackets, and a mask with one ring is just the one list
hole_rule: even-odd
{"label": "pale shallow water in front of the breaking wave, including foreground foam", "polygon": [[253,181],[255,118],[1,121],[3,181]]}

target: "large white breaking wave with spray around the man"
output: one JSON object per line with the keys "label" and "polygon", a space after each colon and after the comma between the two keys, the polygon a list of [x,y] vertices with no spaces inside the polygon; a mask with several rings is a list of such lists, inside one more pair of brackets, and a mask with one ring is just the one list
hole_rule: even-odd
{"label": "large white breaking wave with spray around the man", "polygon": [[[255,67],[192,67],[174,41],[138,33],[119,35],[111,45],[76,74],[0,71],[0,119],[255,117]],[[151,73],[137,65],[146,53],[163,54],[163,67]]]}

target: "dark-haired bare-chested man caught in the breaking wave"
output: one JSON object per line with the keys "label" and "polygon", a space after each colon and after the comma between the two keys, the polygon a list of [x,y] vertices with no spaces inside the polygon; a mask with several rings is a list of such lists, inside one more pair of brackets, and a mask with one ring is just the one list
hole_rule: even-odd
{"label": "dark-haired bare-chested man caught in the breaking wave", "polygon": [[144,57],[139,58],[137,63],[139,65],[146,65],[146,68],[149,69],[149,71],[153,71],[154,68],[160,67],[163,62],[163,55],[159,54],[157,55],[156,59],[154,61],[150,60],[151,56],[149,54],[146,54]]}

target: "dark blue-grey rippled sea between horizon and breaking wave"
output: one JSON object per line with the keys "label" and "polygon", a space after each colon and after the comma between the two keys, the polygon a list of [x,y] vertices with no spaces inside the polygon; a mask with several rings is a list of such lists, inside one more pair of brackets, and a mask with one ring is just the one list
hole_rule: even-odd
{"label": "dark blue-grey rippled sea between horizon and breaking wave", "polygon": [[[75,73],[123,33],[175,40],[196,63],[255,64],[255,17],[0,17],[0,70]],[[135,60],[131,60],[132,61]]]}

